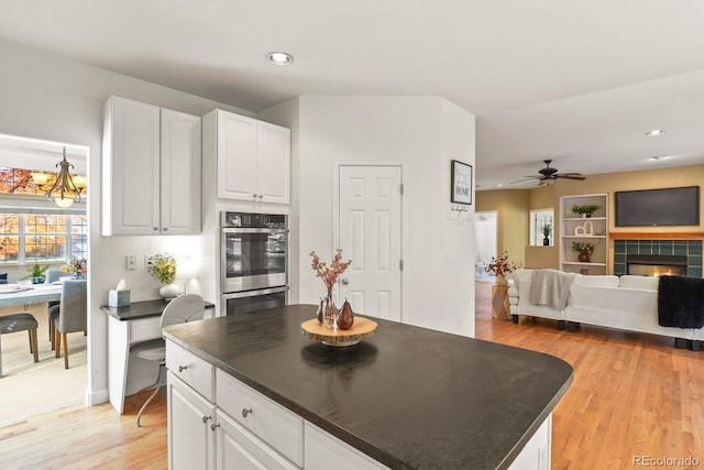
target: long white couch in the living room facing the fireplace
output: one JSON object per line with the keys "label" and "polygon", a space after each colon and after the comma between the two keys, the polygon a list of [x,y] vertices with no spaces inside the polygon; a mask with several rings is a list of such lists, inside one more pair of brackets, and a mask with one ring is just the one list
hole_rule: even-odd
{"label": "long white couch in the living room facing the fireplace", "polygon": [[[702,329],[661,327],[658,325],[658,278],[623,275],[578,274],[570,286],[570,295],[564,308],[530,303],[532,270],[514,273],[514,291],[509,297],[514,321],[518,315],[549,318],[558,321],[558,328],[573,330],[580,324],[596,325],[630,331],[668,336],[675,339],[678,347],[682,340],[704,339]],[[516,307],[516,308],[514,308]]]}

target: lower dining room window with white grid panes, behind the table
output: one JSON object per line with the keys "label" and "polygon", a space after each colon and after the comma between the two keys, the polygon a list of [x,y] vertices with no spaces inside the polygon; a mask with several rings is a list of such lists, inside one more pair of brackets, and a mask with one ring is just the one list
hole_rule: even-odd
{"label": "lower dining room window with white grid panes, behind the table", "polygon": [[85,215],[0,214],[0,264],[52,263],[87,255]]}

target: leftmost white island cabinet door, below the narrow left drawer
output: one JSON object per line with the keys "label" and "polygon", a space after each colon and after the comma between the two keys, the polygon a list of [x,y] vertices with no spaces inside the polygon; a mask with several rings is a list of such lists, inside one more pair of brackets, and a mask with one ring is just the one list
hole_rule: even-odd
{"label": "leftmost white island cabinet door, below the narrow left drawer", "polygon": [[215,405],[188,385],[167,375],[168,468],[215,469]]}

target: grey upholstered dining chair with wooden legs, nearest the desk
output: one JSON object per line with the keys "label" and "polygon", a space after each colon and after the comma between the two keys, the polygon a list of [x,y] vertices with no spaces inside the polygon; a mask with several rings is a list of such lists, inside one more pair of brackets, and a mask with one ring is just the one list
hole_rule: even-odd
{"label": "grey upholstered dining chair with wooden legs, nearest the desk", "polygon": [[88,289],[86,280],[69,280],[62,284],[62,299],[52,307],[50,321],[55,329],[55,356],[61,357],[64,342],[64,369],[68,369],[68,340],[66,334],[82,331],[88,327]]}

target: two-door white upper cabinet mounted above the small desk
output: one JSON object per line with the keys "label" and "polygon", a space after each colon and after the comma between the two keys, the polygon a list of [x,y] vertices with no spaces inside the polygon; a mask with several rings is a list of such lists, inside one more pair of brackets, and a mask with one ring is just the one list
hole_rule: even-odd
{"label": "two-door white upper cabinet mounted above the small desk", "polygon": [[110,97],[102,234],[200,233],[200,118]]}

